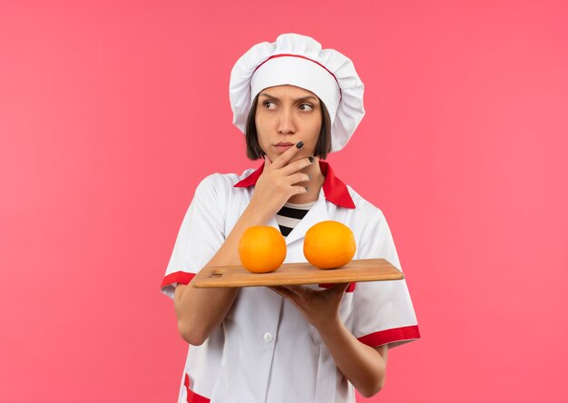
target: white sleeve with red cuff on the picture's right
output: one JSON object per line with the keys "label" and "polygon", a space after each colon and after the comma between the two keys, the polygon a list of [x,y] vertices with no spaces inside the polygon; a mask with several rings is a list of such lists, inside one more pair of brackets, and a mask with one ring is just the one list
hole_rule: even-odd
{"label": "white sleeve with red cuff on the picture's right", "polygon": [[[362,234],[358,259],[382,258],[400,269],[387,220],[377,209]],[[395,347],[420,339],[416,314],[406,280],[359,282],[354,290],[353,335],[371,347]]]}

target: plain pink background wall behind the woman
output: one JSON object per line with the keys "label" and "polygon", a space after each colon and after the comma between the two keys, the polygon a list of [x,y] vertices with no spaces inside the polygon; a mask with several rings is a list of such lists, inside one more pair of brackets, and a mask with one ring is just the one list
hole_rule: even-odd
{"label": "plain pink background wall behind the woman", "polygon": [[563,1],[0,3],[0,401],[172,402],[159,285],[196,184],[255,167],[237,58],[284,32],[354,61],[328,161],[386,214],[423,339],[373,402],[564,402]]}

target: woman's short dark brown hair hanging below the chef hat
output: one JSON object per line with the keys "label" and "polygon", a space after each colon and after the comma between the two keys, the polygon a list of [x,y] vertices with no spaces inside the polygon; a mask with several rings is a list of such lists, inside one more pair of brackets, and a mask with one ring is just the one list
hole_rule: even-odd
{"label": "woman's short dark brown hair hanging below the chef hat", "polygon": [[[259,136],[257,134],[257,125],[255,117],[257,112],[257,104],[259,103],[259,95],[254,97],[250,112],[247,116],[247,124],[245,126],[245,139],[247,142],[247,157],[250,160],[259,160],[264,155],[259,144]],[[319,100],[321,107],[321,130],[319,131],[318,143],[316,143],[316,150],[314,156],[322,160],[328,157],[328,152],[331,151],[331,119],[329,118],[328,109],[326,105]]]}

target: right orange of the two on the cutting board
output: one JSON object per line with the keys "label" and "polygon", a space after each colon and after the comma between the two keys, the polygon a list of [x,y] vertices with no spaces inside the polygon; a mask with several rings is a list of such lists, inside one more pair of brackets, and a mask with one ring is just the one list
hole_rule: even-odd
{"label": "right orange of the two on the cutting board", "polygon": [[353,231],[338,221],[321,221],[306,232],[304,256],[319,269],[336,269],[355,256]]}

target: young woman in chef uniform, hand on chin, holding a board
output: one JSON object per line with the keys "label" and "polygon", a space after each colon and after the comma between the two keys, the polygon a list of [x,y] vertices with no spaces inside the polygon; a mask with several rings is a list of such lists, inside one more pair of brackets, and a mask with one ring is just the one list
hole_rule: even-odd
{"label": "young woman in chef uniform, hand on chin, holding a board", "polygon": [[354,232],[354,259],[400,268],[382,212],[335,176],[328,152],[343,148],[363,109],[351,61],[315,40],[282,34],[253,46],[230,79],[234,123],[257,170],[214,173],[197,187],[162,292],[174,300],[191,344],[179,402],[354,402],[382,388],[389,348],[420,337],[406,282],[195,289],[206,266],[240,264],[253,225],[286,236],[285,262],[306,261],[303,238],[319,221]]}

